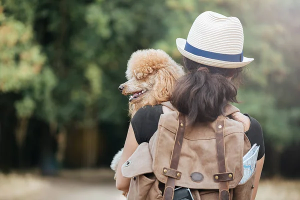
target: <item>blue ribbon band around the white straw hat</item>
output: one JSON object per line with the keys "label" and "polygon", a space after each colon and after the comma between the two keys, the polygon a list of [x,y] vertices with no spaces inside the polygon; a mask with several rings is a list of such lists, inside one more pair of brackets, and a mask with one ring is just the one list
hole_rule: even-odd
{"label": "blue ribbon band around the white straw hat", "polygon": [[223,54],[223,53],[215,53],[210,52],[206,50],[202,50],[199,48],[196,48],[192,45],[190,45],[187,41],[184,46],[184,50],[187,52],[190,52],[194,55],[210,58],[210,59],[216,59],[216,60],[222,60],[222,61],[228,61],[228,62],[242,62],[243,60],[243,51],[238,54]]}

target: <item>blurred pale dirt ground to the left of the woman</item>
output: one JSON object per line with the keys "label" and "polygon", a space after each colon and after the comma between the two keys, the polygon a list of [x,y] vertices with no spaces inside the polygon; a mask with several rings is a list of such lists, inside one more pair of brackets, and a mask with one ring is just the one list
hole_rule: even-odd
{"label": "blurred pale dirt ground to the left of the woman", "polygon": [[0,174],[0,200],[125,200],[110,169],[61,170],[59,176],[38,171]]}

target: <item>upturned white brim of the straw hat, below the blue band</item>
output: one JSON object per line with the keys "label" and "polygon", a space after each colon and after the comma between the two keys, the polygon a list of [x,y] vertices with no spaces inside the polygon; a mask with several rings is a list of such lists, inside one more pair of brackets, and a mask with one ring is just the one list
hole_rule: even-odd
{"label": "upturned white brim of the straw hat, below the blue band", "polygon": [[187,57],[195,62],[205,64],[208,66],[215,66],[215,67],[221,67],[221,68],[238,68],[238,67],[245,66],[254,60],[253,58],[248,58],[248,57],[243,57],[242,62],[228,62],[228,61],[223,61],[223,60],[210,59],[207,57],[202,57],[202,56],[194,55],[190,52],[187,52],[186,50],[184,50],[185,43],[186,43],[186,39],[183,39],[183,38],[176,39],[176,44],[177,44],[177,48],[178,48],[179,52],[184,57]]}

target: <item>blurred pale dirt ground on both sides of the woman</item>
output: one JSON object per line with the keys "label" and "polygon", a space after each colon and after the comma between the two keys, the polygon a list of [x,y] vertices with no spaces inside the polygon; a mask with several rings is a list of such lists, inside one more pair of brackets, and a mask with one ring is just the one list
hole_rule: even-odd
{"label": "blurred pale dirt ground on both sides of the woman", "polygon": [[[35,177],[38,181],[34,179]],[[59,177],[35,175],[25,181],[10,181],[2,178],[0,200],[125,200],[121,192],[115,188],[112,177],[111,170],[64,170]],[[22,191],[22,189],[26,190],[26,186],[35,189]],[[262,180],[257,199],[299,200],[300,181]]]}

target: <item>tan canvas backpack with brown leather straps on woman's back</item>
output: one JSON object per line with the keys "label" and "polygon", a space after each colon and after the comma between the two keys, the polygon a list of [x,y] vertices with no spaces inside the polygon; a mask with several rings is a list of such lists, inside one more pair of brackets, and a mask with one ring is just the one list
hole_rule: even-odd
{"label": "tan canvas backpack with brown leather straps on woman's back", "polygon": [[190,188],[195,200],[251,199],[255,171],[238,184],[251,147],[242,123],[229,117],[238,108],[227,105],[225,116],[190,126],[169,102],[162,104],[173,111],[160,115],[149,143],[122,165],[131,178],[127,199],[172,200],[175,186]]}

